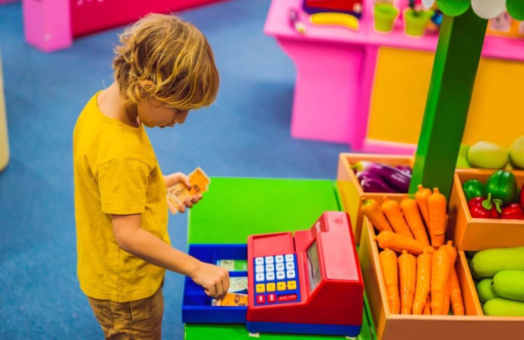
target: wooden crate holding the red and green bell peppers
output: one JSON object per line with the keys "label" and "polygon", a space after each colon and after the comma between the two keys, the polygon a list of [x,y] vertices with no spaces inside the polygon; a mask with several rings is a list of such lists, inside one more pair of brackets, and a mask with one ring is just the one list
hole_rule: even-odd
{"label": "wooden crate holding the red and green bell peppers", "polygon": [[[449,217],[446,232],[448,239],[454,240],[459,250],[483,250],[499,247],[524,246],[523,220],[496,220],[473,218],[467,206],[462,184],[471,179],[485,182],[496,170],[457,169],[451,189]],[[512,171],[520,188],[524,183],[524,171]]]}

